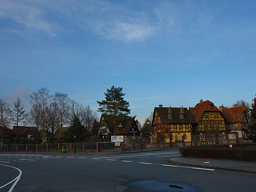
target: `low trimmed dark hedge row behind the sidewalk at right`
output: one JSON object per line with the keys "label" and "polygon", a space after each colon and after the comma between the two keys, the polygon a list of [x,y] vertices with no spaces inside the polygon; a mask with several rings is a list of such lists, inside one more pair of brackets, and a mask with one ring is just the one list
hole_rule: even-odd
{"label": "low trimmed dark hedge row behind the sidewalk at right", "polygon": [[184,157],[256,161],[256,149],[182,147],[180,153]]}

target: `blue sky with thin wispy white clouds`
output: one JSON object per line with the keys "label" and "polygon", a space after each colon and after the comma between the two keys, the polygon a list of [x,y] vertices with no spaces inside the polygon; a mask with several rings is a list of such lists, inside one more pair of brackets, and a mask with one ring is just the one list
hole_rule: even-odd
{"label": "blue sky with thin wispy white clouds", "polygon": [[0,97],[47,87],[95,110],[123,87],[140,122],[154,107],[251,103],[255,1],[0,0]]}

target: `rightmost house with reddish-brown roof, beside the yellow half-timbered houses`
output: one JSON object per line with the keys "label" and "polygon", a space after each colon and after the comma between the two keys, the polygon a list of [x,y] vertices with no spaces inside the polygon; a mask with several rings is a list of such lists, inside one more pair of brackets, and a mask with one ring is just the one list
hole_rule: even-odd
{"label": "rightmost house with reddish-brown roof, beside the yellow half-timbered houses", "polygon": [[248,117],[245,113],[244,106],[238,107],[234,105],[231,108],[222,108],[220,110],[226,120],[226,130],[230,134],[231,139],[235,139],[238,133],[239,138],[248,139],[244,129],[248,129]]}

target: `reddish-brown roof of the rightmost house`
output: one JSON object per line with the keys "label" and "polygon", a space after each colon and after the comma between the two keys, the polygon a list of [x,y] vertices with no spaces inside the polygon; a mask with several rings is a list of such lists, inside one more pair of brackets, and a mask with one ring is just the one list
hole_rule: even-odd
{"label": "reddish-brown roof of the rightmost house", "polygon": [[224,108],[223,116],[227,120],[227,123],[237,123],[243,122],[243,114],[245,112],[244,106],[241,107],[232,107],[232,108]]}

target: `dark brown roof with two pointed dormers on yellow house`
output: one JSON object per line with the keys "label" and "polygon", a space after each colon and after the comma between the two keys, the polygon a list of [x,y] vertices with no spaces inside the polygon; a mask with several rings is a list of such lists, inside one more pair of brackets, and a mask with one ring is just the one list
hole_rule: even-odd
{"label": "dark brown roof with two pointed dormers on yellow house", "polygon": [[[183,108],[184,119],[180,118],[181,107],[171,107],[172,118],[168,118],[169,107],[155,107],[154,114],[160,117],[160,120],[164,124],[193,124],[194,119],[192,113],[189,112],[187,108]],[[152,120],[152,126],[154,123],[154,118]]]}

